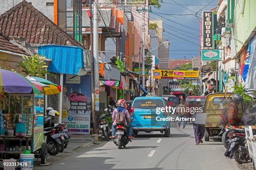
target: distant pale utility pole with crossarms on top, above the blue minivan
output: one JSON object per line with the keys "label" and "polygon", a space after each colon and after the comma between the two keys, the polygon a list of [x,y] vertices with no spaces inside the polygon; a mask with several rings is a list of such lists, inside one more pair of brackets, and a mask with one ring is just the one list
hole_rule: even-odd
{"label": "distant pale utility pole with crossarms on top, above the blue minivan", "polygon": [[141,13],[142,11],[142,20],[143,20],[143,24],[142,24],[142,87],[145,88],[145,15],[146,12],[152,12],[152,10],[146,10],[146,6],[145,4],[143,5],[142,9],[139,10],[138,7],[136,9],[136,11],[138,13]]}

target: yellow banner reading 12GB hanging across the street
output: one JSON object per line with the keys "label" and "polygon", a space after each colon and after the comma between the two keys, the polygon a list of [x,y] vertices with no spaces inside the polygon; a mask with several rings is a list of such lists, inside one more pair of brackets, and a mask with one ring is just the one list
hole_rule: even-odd
{"label": "yellow banner reading 12GB hanging across the street", "polygon": [[153,70],[153,78],[158,79],[198,79],[199,71]]}

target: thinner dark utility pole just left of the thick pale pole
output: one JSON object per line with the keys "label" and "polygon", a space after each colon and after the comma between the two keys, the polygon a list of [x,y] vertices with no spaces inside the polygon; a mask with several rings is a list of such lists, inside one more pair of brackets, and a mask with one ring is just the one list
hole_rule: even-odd
{"label": "thinner dark utility pole just left of the thick pale pole", "polygon": [[91,51],[91,97],[92,97],[92,101],[91,101],[91,107],[92,107],[92,129],[93,129],[93,133],[96,133],[96,113],[95,113],[95,93],[94,93],[94,58],[93,58],[93,34],[92,34],[92,0],[90,0],[90,51]]}

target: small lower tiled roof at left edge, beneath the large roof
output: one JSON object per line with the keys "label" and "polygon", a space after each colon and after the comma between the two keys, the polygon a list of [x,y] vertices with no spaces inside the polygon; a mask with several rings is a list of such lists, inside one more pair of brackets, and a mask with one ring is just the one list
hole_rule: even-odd
{"label": "small lower tiled roof at left edge, beneath the large roof", "polygon": [[23,54],[23,55],[28,56],[28,54],[22,48],[11,43],[9,41],[9,37],[7,37],[1,33],[0,33],[0,50],[15,52],[18,54]]}

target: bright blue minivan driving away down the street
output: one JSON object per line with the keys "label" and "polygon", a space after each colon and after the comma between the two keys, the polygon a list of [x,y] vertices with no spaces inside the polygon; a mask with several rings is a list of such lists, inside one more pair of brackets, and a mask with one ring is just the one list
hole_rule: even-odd
{"label": "bright blue minivan driving away down the street", "polygon": [[156,107],[166,106],[163,97],[136,97],[131,106],[130,114],[131,119],[133,120],[132,125],[134,135],[138,135],[139,131],[147,133],[160,131],[161,133],[164,133],[164,137],[169,137],[170,121],[160,120],[160,117],[169,117],[169,113],[160,112],[160,114],[156,114]]}

